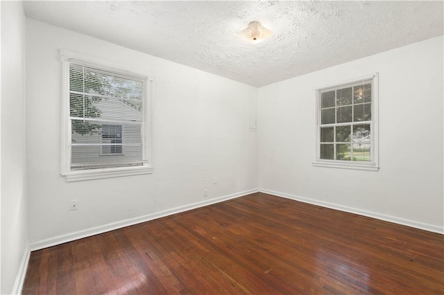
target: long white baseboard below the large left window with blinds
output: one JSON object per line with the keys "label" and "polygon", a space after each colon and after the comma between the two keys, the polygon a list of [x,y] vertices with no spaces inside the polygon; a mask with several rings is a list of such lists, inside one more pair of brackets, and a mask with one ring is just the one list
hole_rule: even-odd
{"label": "long white baseboard below the large left window with blinds", "polygon": [[63,244],[66,242],[71,242],[74,240],[78,240],[78,239],[82,239],[82,238],[87,238],[90,237],[92,235],[97,235],[99,233],[105,233],[107,231],[114,231],[114,229],[121,229],[123,227],[126,226],[130,226],[130,225],[134,225],[134,224],[139,224],[142,222],[147,222],[150,220],[155,220],[157,218],[160,217],[165,217],[168,215],[173,215],[176,213],[181,213],[181,212],[185,212],[185,211],[189,211],[195,208],[200,208],[203,206],[208,206],[211,204],[216,204],[219,202],[223,202],[226,201],[228,199],[234,199],[237,197],[242,197],[244,195],[250,195],[252,193],[257,193],[259,190],[257,190],[257,188],[252,189],[252,190],[245,190],[244,192],[240,192],[240,193],[234,193],[231,195],[225,195],[223,197],[217,197],[215,199],[209,199],[209,200],[205,200],[202,202],[196,202],[193,204],[188,204],[185,206],[180,206],[180,207],[176,207],[176,208],[172,208],[172,209],[168,209],[165,211],[160,211],[160,212],[155,212],[155,213],[151,213],[148,215],[144,215],[144,216],[140,216],[140,217],[135,217],[135,218],[130,218],[128,220],[121,220],[119,222],[112,222],[110,224],[105,224],[102,226],[95,226],[91,229],[85,229],[83,231],[75,231],[74,233],[67,233],[65,235],[58,235],[56,237],[53,238],[48,238],[45,240],[40,240],[37,242],[33,242],[30,245],[30,249],[31,251],[35,251],[35,250],[39,250],[39,249],[44,249],[47,247],[52,247],[52,246],[56,246],[58,244]]}

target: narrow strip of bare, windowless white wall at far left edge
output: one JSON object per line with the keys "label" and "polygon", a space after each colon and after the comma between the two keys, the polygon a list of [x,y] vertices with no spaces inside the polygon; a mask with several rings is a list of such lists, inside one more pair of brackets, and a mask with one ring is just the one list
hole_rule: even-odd
{"label": "narrow strip of bare, windowless white wall at far left edge", "polygon": [[18,287],[27,251],[25,87],[22,2],[1,1],[1,294]]}

